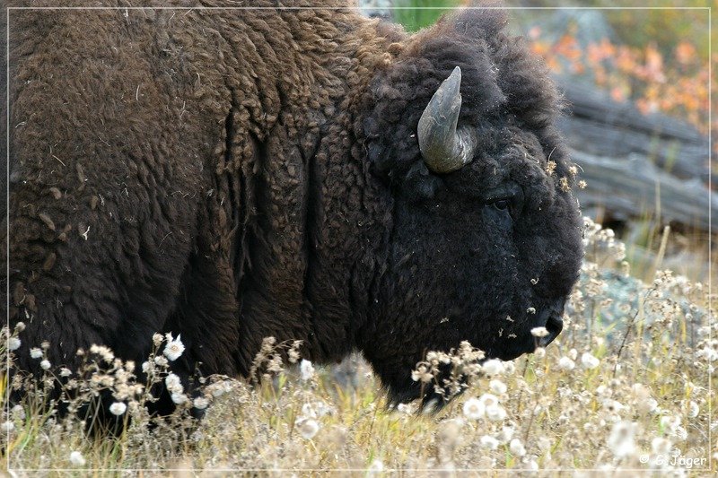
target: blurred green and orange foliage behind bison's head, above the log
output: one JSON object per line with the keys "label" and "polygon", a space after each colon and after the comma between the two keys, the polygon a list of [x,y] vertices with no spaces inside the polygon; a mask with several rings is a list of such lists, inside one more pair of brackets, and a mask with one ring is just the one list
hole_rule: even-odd
{"label": "blurred green and orange foliage behind bison's head, above the log", "polygon": [[[390,11],[394,22],[417,31],[469,0],[370,0]],[[584,0],[505,0],[515,8],[511,28],[529,35],[533,48],[556,74],[592,79],[615,100],[632,100],[644,113],[686,119],[702,133],[708,128],[708,55],[718,52],[707,7],[718,0],[644,2]],[[691,10],[694,8],[695,10]],[[560,9],[560,10],[559,10]],[[713,62],[718,62],[714,53]],[[715,84],[713,82],[712,84]],[[718,131],[718,119],[714,121]]]}

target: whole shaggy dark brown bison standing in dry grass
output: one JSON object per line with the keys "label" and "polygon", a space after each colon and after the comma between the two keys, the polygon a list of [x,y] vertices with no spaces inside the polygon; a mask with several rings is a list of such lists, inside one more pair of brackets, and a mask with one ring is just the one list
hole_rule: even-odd
{"label": "whole shaggy dark brown bison standing in dry grass", "polygon": [[197,366],[248,374],[274,336],[312,361],[359,350],[407,401],[427,351],[508,360],[532,327],[560,332],[574,168],[503,13],[413,36],[349,9],[179,13],[10,12],[22,369],[43,340],[72,368],[92,343],[143,361],[171,332],[187,387]]}

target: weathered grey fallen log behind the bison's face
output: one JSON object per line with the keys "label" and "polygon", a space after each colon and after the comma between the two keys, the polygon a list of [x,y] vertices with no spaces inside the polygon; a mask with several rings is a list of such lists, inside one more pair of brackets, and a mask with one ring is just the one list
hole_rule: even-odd
{"label": "weathered grey fallen log behind the bison's face", "polygon": [[558,82],[570,112],[559,127],[588,183],[578,195],[584,210],[602,209],[619,221],[652,217],[718,231],[709,221],[709,206],[716,208],[718,200],[705,184],[705,135],[674,117],[643,115],[591,86]]}

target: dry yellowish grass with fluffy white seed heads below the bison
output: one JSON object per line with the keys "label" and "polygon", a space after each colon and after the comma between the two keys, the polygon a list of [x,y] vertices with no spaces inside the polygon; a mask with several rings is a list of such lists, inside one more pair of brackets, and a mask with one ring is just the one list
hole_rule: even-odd
{"label": "dry yellowish grass with fluffy white seed heads below the bison", "polygon": [[[354,385],[346,386],[338,385],[341,374],[335,369],[313,370],[302,362],[285,370],[273,351],[293,344],[267,342],[258,361],[271,378],[256,387],[208,380],[205,397],[211,404],[204,421],[187,418],[188,400],[151,431],[142,406],[151,396],[137,387],[132,365],[96,348],[86,352],[86,371],[95,373],[73,375],[74,395],[114,390],[118,401],[127,403],[120,416],[132,416],[125,433],[88,439],[77,419],[43,412],[37,392],[4,410],[3,449],[10,450],[10,467],[21,475],[62,469],[78,475],[144,469],[145,476],[180,469],[202,475],[240,469],[284,470],[276,472],[283,475],[403,470],[434,476],[465,469],[710,474],[718,464],[715,436],[713,443],[709,439],[718,426],[710,415],[715,395],[709,392],[718,325],[705,309],[706,288],[665,271],[652,283],[629,281],[623,246],[598,226],[589,225],[586,246],[568,325],[546,350],[479,366],[478,352],[465,345],[451,354],[435,353],[417,368],[414,377],[427,387],[435,385],[432,369],[442,362],[468,376],[468,386],[442,384],[466,389],[439,413],[416,413],[416,404],[387,410],[377,379],[361,361],[349,374]],[[608,277],[623,283],[620,291]],[[22,332],[11,335],[22,340]],[[156,340],[159,359],[144,367],[154,381],[166,380],[162,357],[168,338]],[[180,389],[176,393],[181,401]],[[77,400],[70,404],[77,406]],[[56,471],[31,471],[38,469]]]}

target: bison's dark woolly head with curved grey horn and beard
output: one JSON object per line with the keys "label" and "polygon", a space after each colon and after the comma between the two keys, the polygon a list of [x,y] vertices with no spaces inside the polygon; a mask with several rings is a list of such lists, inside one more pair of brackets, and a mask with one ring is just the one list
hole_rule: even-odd
{"label": "bison's dark woolly head with curved grey horn and beard", "polygon": [[[394,401],[410,370],[461,341],[513,359],[561,332],[582,259],[575,167],[559,96],[502,13],[464,12],[418,34],[370,87],[363,120],[390,190],[387,272],[363,351]],[[531,329],[547,328],[538,339]]]}

